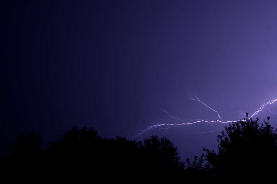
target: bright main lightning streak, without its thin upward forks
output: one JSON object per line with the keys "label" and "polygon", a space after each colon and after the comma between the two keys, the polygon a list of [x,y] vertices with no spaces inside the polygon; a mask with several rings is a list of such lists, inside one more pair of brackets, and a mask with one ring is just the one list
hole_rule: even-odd
{"label": "bright main lightning streak, without its thin upward forks", "polygon": [[[198,101],[198,100],[197,100]],[[255,113],[253,113],[250,118],[252,118],[253,116],[257,115],[259,112],[261,112],[264,108],[264,106],[268,105],[268,104],[272,104],[274,102],[277,101],[277,98],[274,100],[270,100],[269,102],[264,103],[259,109],[258,111],[256,111]],[[205,105],[205,104],[204,104]],[[207,106],[207,105],[206,105]],[[217,112],[217,111],[216,111]],[[241,121],[245,121],[245,120],[241,120]],[[146,132],[147,130],[153,129],[153,128],[157,128],[157,127],[161,127],[161,126],[178,126],[178,125],[190,125],[190,124],[196,124],[196,123],[215,123],[215,122],[219,122],[219,123],[232,123],[234,121],[219,121],[219,120],[214,120],[214,121],[206,121],[206,120],[199,120],[199,121],[195,121],[195,122],[191,122],[191,123],[174,123],[174,124],[156,124],[156,125],[152,125],[150,127],[148,127],[147,129],[143,130],[141,133],[137,134],[137,135],[141,135],[144,132]]]}

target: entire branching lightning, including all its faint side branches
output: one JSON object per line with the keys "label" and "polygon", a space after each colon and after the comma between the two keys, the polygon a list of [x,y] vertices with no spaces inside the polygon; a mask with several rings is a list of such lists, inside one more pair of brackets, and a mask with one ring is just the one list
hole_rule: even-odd
{"label": "entire branching lightning, including all its faint side branches", "polygon": [[[198,102],[202,103],[204,106],[206,106],[206,107],[208,107],[209,109],[211,109],[211,110],[213,110],[214,112],[216,112],[220,120],[213,120],[213,121],[207,121],[207,120],[204,120],[204,119],[185,120],[185,119],[181,119],[181,118],[178,118],[178,117],[171,116],[167,111],[165,111],[165,110],[159,108],[161,111],[165,112],[169,117],[178,119],[179,121],[186,121],[186,123],[155,124],[155,125],[152,125],[152,126],[148,127],[147,129],[143,130],[141,133],[139,133],[139,134],[137,134],[137,135],[141,135],[141,134],[143,134],[144,132],[146,132],[146,131],[148,131],[148,130],[150,130],[150,129],[154,129],[154,128],[158,128],[158,127],[161,127],[160,129],[168,130],[169,128],[175,127],[175,126],[178,126],[178,125],[191,125],[191,124],[197,124],[197,123],[207,123],[207,124],[222,123],[222,124],[224,124],[224,123],[232,123],[232,122],[234,122],[234,121],[223,121],[222,118],[220,117],[218,111],[214,110],[213,108],[209,107],[207,104],[203,103],[196,95],[193,94],[193,96],[194,96],[195,98],[192,98],[192,97],[191,97],[192,100],[198,101]],[[257,115],[259,112],[261,112],[261,111],[264,109],[264,107],[265,107],[266,105],[272,104],[272,103],[274,103],[274,102],[276,102],[276,101],[277,101],[277,98],[274,99],[274,100],[270,100],[269,102],[263,103],[263,105],[262,105],[256,112],[254,112],[251,116],[248,116],[248,118],[252,118],[253,116]],[[267,110],[269,110],[269,109],[267,109]],[[269,111],[270,111],[270,110],[269,110]],[[272,111],[270,111],[270,112],[272,112]],[[274,113],[274,112],[272,112],[272,113]],[[246,114],[243,114],[243,113],[241,113],[241,114],[244,115],[244,116],[246,116]],[[274,114],[275,114],[275,113],[274,113]],[[241,121],[245,121],[245,120],[241,120]],[[167,128],[163,128],[163,127],[167,127]],[[215,131],[215,130],[214,130],[214,131]],[[213,132],[213,131],[209,131],[209,132]],[[206,133],[206,132],[205,132],[205,133]]]}

